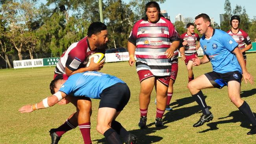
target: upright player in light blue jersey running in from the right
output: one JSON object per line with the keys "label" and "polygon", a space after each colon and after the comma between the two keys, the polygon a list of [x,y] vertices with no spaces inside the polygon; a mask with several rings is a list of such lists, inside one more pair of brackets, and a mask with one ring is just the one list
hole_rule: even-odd
{"label": "upright player in light blue jersey running in from the right", "polygon": [[[225,85],[228,87],[228,96],[231,102],[249,119],[252,129],[247,135],[256,134],[256,119],[249,105],[241,99],[241,79],[245,83],[249,81],[253,84],[253,77],[247,72],[243,55],[238,48],[238,44],[228,33],[221,30],[214,30],[210,25],[210,17],[204,13],[195,17],[197,30],[202,34],[200,45],[204,50],[202,59],[193,59],[193,65],[211,62],[213,71],[208,72],[188,83],[188,88],[196,102],[202,109],[202,116],[195,123],[194,127],[202,126],[205,122],[213,119],[213,114],[208,109],[201,89],[219,88]],[[243,76],[242,76],[243,74]]]}

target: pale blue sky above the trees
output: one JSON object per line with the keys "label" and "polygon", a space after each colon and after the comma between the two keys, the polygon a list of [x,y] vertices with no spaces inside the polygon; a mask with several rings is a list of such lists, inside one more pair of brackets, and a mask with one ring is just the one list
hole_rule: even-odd
{"label": "pale blue sky above the trees", "polygon": [[[129,0],[123,0],[128,3]],[[39,3],[46,3],[46,0],[39,0]],[[170,16],[171,21],[175,22],[175,16],[179,13],[185,18],[195,18],[199,13],[206,13],[214,18],[218,24],[219,14],[224,13],[225,0],[165,0],[165,3],[160,4],[161,10],[166,10]],[[236,5],[245,7],[249,18],[256,16],[256,2],[255,0],[230,0],[232,10]]]}

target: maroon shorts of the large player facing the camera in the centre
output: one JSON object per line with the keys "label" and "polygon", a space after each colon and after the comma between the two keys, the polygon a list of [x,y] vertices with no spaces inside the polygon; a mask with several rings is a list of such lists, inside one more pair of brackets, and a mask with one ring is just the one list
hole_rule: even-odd
{"label": "maroon shorts of the large player facing the camera in the centre", "polygon": [[143,81],[147,78],[155,77],[155,80],[160,81],[166,87],[169,86],[170,76],[154,76],[150,70],[139,70],[138,72],[139,81]]}

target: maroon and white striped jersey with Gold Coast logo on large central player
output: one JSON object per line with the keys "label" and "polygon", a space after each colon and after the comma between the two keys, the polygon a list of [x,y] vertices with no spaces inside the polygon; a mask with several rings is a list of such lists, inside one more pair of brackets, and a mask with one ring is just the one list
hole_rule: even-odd
{"label": "maroon and white striped jersey with Gold Coast logo on large central player", "polygon": [[179,41],[171,21],[163,17],[156,23],[139,20],[128,41],[136,46],[137,71],[150,70],[154,76],[170,76],[171,62],[164,53],[171,42]]}

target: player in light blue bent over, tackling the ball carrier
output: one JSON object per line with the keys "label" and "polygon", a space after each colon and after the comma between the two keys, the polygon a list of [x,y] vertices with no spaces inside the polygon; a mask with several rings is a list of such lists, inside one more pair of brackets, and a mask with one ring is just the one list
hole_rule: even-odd
{"label": "player in light blue bent over, tackling the ball carrier", "polygon": [[[97,131],[106,137],[109,144],[122,144],[119,135],[124,138],[126,144],[137,143],[137,137],[115,121],[130,99],[130,89],[121,79],[100,72],[83,72],[73,74],[67,80],[54,79],[51,89],[56,93],[39,103],[25,105],[19,111],[30,113],[37,109],[47,108],[63,98],[76,107],[78,101],[83,98],[100,99]],[[78,120],[83,117],[83,113],[79,111]]]}

